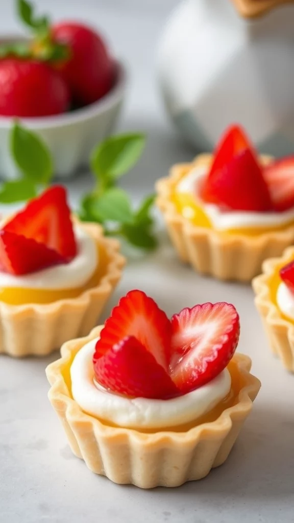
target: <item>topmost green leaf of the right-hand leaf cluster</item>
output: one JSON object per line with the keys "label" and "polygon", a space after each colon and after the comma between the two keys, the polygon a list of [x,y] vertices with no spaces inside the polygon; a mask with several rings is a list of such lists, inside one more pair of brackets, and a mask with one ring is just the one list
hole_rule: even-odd
{"label": "topmost green leaf of the right-hand leaf cluster", "polygon": [[93,151],[91,167],[98,179],[116,179],[139,160],[145,145],[141,133],[118,134],[107,138]]}

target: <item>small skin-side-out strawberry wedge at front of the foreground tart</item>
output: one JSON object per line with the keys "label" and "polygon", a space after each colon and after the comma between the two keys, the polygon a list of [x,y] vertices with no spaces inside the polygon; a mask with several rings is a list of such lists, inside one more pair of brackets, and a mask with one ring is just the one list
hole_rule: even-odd
{"label": "small skin-side-out strawberry wedge at front of the foreground tart", "polygon": [[96,359],[94,371],[100,385],[118,394],[167,399],[179,393],[164,368],[133,336]]}

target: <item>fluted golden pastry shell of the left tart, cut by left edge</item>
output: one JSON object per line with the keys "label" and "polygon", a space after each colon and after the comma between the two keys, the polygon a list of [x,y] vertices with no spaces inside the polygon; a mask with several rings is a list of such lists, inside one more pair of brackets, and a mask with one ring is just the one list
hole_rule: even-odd
{"label": "fluted golden pastry shell of the left tart, cut by left edge", "polygon": [[10,305],[0,301],[0,353],[22,357],[50,354],[69,339],[85,336],[121,278],[125,258],[117,240],[106,238],[95,223],[76,223],[105,249],[108,271],[98,285],[80,296],[49,304]]}

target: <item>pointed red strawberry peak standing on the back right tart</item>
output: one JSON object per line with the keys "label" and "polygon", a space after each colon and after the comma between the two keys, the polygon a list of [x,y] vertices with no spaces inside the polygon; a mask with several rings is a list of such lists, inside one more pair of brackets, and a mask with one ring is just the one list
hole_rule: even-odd
{"label": "pointed red strawberry peak standing on the back right tart", "polygon": [[225,134],[200,196],[229,210],[273,210],[257,155],[241,128],[234,126]]}

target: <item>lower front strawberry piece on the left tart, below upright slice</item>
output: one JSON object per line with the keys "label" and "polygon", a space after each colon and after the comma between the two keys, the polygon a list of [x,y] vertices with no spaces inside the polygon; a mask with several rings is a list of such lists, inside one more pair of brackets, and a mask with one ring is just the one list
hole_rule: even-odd
{"label": "lower front strawberry piece on the left tart, below upright slice", "polygon": [[53,249],[31,238],[0,231],[0,270],[22,275],[65,263],[65,259]]}

